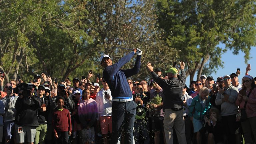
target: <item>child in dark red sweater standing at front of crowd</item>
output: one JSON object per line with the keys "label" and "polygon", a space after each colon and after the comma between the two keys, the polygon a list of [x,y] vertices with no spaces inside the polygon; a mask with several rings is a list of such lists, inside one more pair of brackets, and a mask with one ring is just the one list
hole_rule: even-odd
{"label": "child in dark red sweater standing at front of crowd", "polygon": [[58,97],[56,99],[57,108],[53,112],[52,124],[54,136],[58,144],[68,144],[68,136],[71,135],[71,119],[70,113],[63,108],[64,98]]}

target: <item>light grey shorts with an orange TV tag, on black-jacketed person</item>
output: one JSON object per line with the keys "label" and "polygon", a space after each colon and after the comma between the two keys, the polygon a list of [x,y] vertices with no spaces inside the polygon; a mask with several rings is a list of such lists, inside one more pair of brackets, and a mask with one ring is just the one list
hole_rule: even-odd
{"label": "light grey shorts with an orange TV tag, on black-jacketed person", "polygon": [[[22,127],[22,132],[18,133],[18,127]],[[36,127],[35,126],[19,126],[15,124],[15,133],[16,133],[16,142],[24,143],[25,137],[27,136],[27,142],[34,142],[36,136]]]}

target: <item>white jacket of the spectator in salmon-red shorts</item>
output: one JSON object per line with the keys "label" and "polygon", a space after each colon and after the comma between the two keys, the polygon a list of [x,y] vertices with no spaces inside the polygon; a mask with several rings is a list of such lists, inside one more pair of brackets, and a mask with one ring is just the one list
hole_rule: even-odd
{"label": "white jacket of the spectator in salmon-red shorts", "polygon": [[[110,95],[110,99],[106,99],[105,92],[108,92]],[[98,107],[98,112],[99,116],[112,116],[112,96],[111,96],[111,91],[110,89],[104,90],[102,88],[97,94],[95,98],[97,102],[97,107]],[[98,117],[99,119],[99,117]]]}

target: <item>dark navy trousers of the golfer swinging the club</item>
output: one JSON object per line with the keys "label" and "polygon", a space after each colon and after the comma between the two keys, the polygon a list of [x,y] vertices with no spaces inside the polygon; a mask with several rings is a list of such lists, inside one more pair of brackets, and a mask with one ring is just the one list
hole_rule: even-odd
{"label": "dark navy trousers of the golfer swinging the club", "polygon": [[116,144],[124,128],[124,143],[133,144],[133,126],[137,104],[134,101],[112,103],[112,135],[111,144]]}

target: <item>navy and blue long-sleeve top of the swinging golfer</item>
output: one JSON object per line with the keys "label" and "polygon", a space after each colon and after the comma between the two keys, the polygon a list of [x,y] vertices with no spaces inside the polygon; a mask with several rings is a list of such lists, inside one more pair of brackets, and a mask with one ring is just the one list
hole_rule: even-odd
{"label": "navy and blue long-sleeve top of the swinging golfer", "polygon": [[134,52],[127,54],[117,63],[107,66],[103,71],[103,78],[107,82],[113,98],[132,98],[132,92],[127,83],[127,78],[139,73],[141,56],[137,55],[135,65],[132,69],[120,70],[120,68],[130,61],[134,54]]}

